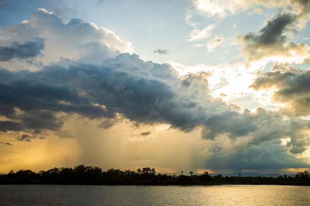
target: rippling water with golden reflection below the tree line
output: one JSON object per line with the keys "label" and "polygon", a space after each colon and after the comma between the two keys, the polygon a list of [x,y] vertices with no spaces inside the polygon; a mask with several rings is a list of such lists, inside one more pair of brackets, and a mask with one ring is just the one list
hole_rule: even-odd
{"label": "rippling water with golden reflection below the tree line", "polygon": [[309,206],[310,187],[0,185],[1,206]]}

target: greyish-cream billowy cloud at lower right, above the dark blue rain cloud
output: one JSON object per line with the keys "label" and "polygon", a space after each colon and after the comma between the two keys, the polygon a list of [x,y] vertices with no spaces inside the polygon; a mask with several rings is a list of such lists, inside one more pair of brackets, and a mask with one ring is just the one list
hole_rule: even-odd
{"label": "greyish-cream billowy cloud at lower right, above the dark blue rain cloud", "polygon": [[257,108],[255,112],[226,111],[211,116],[203,125],[202,137],[214,140],[225,136],[231,141],[246,137],[245,144],[239,147],[241,151],[247,151],[253,145],[289,137],[286,146],[290,148],[290,153],[299,154],[309,146],[309,128],[308,120],[292,118],[286,121],[278,111]]}

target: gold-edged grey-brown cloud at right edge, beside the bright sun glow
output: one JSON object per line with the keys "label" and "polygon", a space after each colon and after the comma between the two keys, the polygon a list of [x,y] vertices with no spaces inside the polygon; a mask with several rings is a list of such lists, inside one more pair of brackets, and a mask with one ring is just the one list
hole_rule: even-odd
{"label": "gold-edged grey-brown cloud at right edge, beside the bright sun glow", "polygon": [[310,71],[301,71],[290,65],[275,64],[251,85],[255,90],[273,89],[272,100],[285,105],[281,109],[289,116],[310,115]]}

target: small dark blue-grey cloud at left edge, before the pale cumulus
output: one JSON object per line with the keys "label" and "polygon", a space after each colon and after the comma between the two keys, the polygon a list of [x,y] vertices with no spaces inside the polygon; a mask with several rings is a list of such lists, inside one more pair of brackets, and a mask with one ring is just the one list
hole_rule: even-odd
{"label": "small dark blue-grey cloud at left edge, before the pale cumulus", "polygon": [[13,42],[10,46],[0,46],[0,61],[9,61],[13,58],[27,59],[36,57],[44,49],[44,40],[35,38],[33,40],[19,43]]}

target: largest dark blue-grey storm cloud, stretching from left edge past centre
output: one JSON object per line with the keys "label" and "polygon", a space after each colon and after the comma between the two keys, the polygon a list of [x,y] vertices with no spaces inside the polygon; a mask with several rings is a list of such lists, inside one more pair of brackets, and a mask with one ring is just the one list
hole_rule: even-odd
{"label": "largest dark blue-grey storm cloud, stretching from left edge past centre", "polygon": [[[195,112],[207,105],[199,106],[199,96],[190,96],[192,89],[197,95],[207,91],[207,82],[203,86],[189,82],[202,81],[203,76],[189,75],[180,81],[170,66],[143,62],[137,55],[122,54],[102,65],[50,65],[38,72],[2,69],[0,73],[7,77],[0,82],[1,115],[18,120],[8,121],[12,125],[5,128],[56,130],[63,124],[56,117],[60,112],[90,119],[113,119],[119,113],[138,123],[168,123],[181,130],[191,130],[198,125],[193,121],[207,117],[207,110]],[[185,89],[185,96],[175,89]],[[22,113],[16,114],[15,108]],[[107,123],[100,127],[114,122]]]}

